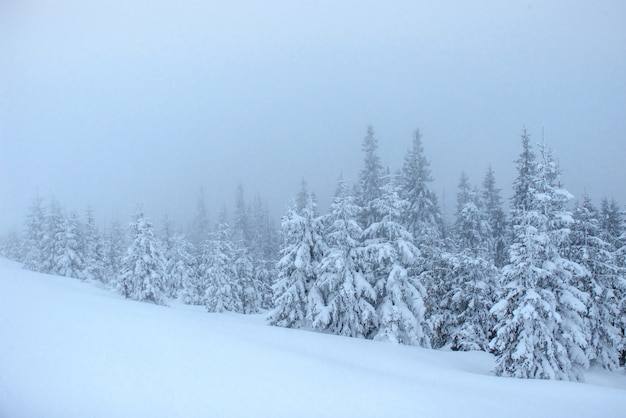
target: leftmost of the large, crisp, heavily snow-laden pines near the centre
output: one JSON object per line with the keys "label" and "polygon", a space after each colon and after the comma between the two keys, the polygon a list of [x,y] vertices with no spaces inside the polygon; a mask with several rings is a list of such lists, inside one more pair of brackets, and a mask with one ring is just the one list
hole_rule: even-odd
{"label": "leftmost of the large, crisp, heavily snow-laden pines near the centre", "polygon": [[322,223],[312,193],[299,211],[293,202],[281,223],[283,246],[277,263],[278,280],[273,287],[274,309],[271,325],[288,328],[310,326],[316,309],[324,306],[317,287],[317,269],[324,254]]}

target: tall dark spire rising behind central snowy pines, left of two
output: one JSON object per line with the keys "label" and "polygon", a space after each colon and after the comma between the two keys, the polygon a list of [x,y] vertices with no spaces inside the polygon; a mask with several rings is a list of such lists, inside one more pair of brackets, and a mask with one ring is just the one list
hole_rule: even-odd
{"label": "tall dark spire rising behind central snowy pines, left of two", "polygon": [[363,138],[364,166],[359,175],[357,185],[357,203],[361,206],[359,221],[362,228],[367,228],[378,220],[372,202],[382,194],[383,166],[378,157],[378,140],[372,125],[367,126],[367,134]]}

